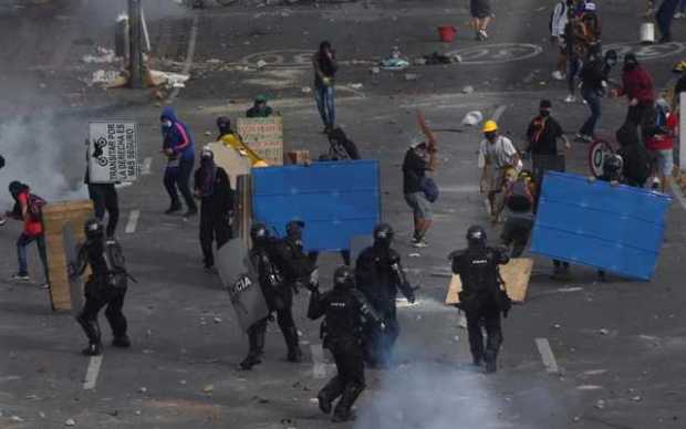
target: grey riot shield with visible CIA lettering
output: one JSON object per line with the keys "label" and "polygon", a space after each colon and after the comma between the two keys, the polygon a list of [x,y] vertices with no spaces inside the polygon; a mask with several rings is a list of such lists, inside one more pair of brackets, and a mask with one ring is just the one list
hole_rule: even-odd
{"label": "grey riot shield with visible CIA lettering", "polygon": [[219,276],[226,287],[238,324],[248,331],[252,324],[269,315],[256,270],[241,240],[231,240],[217,252]]}

